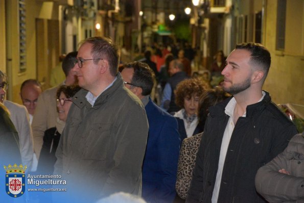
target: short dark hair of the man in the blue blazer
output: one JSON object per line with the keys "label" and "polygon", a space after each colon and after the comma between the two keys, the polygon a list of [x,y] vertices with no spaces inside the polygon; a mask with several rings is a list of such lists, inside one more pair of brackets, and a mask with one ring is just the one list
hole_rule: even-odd
{"label": "short dark hair of the man in the blue blazer", "polygon": [[143,89],[143,96],[151,94],[154,86],[155,74],[148,64],[141,62],[132,62],[125,64],[124,68],[134,69],[131,83]]}

